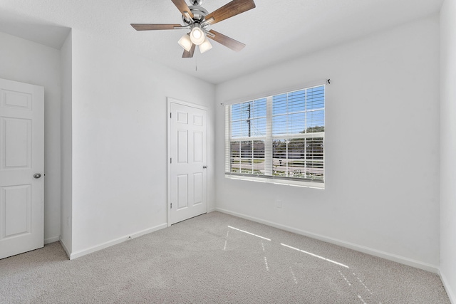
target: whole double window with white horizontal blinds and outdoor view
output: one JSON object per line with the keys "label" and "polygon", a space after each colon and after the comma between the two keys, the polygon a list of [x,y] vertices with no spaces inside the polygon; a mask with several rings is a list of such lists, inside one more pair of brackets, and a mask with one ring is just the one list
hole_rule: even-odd
{"label": "whole double window with white horizontal blinds and outdoor view", "polygon": [[227,177],[323,188],[325,85],[227,105],[225,131]]}

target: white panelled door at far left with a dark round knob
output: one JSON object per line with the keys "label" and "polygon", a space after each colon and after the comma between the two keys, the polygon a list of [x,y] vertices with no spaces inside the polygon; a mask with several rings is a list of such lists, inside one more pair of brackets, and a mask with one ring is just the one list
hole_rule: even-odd
{"label": "white panelled door at far left with a dark round knob", "polygon": [[0,258],[43,247],[44,88],[0,79]]}

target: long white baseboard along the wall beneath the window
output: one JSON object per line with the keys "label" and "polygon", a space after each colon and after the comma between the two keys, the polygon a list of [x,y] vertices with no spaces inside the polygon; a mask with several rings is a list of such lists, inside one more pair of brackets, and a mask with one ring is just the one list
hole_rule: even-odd
{"label": "long white baseboard along the wall beneath the window", "polygon": [[313,234],[313,233],[311,233],[309,231],[304,231],[304,230],[296,229],[296,228],[293,228],[293,227],[290,227],[290,226],[277,224],[277,223],[274,223],[272,221],[265,221],[263,219],[258,219],[258,218],[254,217],[254,216],[247,216],[245,214],[239,214],[237,212],[229,211],[229,210],[226,210],[226,209],[216,208],[216,211],[219,211],[219,212],[222,212],[222,213],[225,213],[225,214],[229,214],[229,215],[232,215],[232,216],[237,216],[237,217],[240,217],[242,219],[248,219],[249,221],[256,221],[257,223],[265,224],[265,225],[272,226],[272,227],[275,227],[275,228],[278,228],[278,229],[282,229],[282,230],[285,230],[285,231],[293,232],[294,234],[301,234],[303,236],[309,236],[309,238],[312,238],[312,239],[318,239],[320,241],[325,241],[327,243],[333,243],[333,244],[338,245],[338,246],[350,248],[350,249],[353,249],[353,250],[356,250],[356,251],[360,251],[360,252],[363,252],[363,253],[368,253],[371,256],[378,256],[379,258],[385,258],[386,260],[389,260],[389,261],[394,261],[394,262],[401,263],[401,264],[404,264],[404,265],[407,265],[407,266],[420,268],[420,269],[423,269],[425,271],[430,271],[432,273],[439,273],[439,269],[438,269],[437,266],[434,266],[434,265],[431,265],[431,264],[427,264],[427,263],[423,263],[423,262],[420,262],[420,261],[415,261],[415,260],[412,260],[410,258],[405,258],[403,256],[398,256],[398,255],[395,255],[393,253],[388,253],[388,252],[385,252],[385,251],[379,251],[379,250],[376,250],[376,249],[373,249],[373,248],[368,248],[368,247],[365,247],[365,246],[357,245],[355,243],[349,243],[349,242],[346,242],[346,241],[341,241],[341,240],[338,240],[338,239],[329,238],[327,236],[321,236],[320,234]]}

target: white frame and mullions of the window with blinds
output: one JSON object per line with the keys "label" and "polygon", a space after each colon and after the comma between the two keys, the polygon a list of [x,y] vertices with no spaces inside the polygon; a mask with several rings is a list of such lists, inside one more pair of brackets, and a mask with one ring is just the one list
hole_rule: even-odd
{"label": "white frame and mullions of the window with blinds", "polygon": [[[326,80],[324,82],[313,83],[312,85],[301,86],[299,88],[293,88],[291,90],[281,91],[279,93],[267,94],[266,97],[262,96],[261,98],[266,98],[266,136],[261,137],[236,137],[231,138],[232,134],[232,125],[231,125],[231,105],[237,103],[247,103],[252,100],[257,100],[261,98],[252,98],[249,100],[236,100],[232,103],[225,105],[225,178],[228,179],[239,179],[252,182],[263,182],[267,184],[282,184],[286,186],[294,187],[308,187],[315,189],[324,189],[325,188],[325,179],[326,179],[326,165],[325,165],[325,132],[316,132],[316,133],[300,133],[300,134],[286,134],[286,135],[272,135],[272,119],[273,119],[273,105],[272,100],[275,95],[281,95],[285,93],[292,93],[299,90],[307,90],[311,88],[316,88],[321,85],[325,85],[325,120],[326,120]],[[326,125],[326,124],[325,124]],[[326,129],[325,129],[326,130]],[[296,138],[323,138],[323,181],[311,181],[309,179],[299,179],[291,177],[276,177],[272,175],[272,161],[273,161],[273,149],[272,141],[274,139],[287,140],[287,139],[296,139]],[[242,141],[254,141],[254,140],[263,140],[264,141],[264,173],[265,175],[254,175],[254,174],[236,174],[231,172],[231,142],[236,140],[239,142]]]}

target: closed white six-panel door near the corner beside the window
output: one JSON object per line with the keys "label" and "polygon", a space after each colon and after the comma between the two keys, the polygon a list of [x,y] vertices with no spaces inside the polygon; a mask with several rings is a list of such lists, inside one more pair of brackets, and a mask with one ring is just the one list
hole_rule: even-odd
{"label": "closed white six-panel door near the corner beside the window", "polygon": [[207,110],[170,100],[169,224],[207,212]]}

